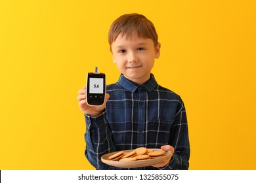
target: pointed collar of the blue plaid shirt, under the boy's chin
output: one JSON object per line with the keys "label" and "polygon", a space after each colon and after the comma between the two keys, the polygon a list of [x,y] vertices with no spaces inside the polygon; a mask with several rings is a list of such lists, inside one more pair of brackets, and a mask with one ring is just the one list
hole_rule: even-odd
{"label": "pointed collar of the blue plaid shirt, under the boy's chin", "polygon": [[150,75],[150,79],[144,82],[142,86],[131,80],[128,80],[125,78],[125,76],[123,76],[123,74],[121,74],[118,80],[118,84],[132,93],[135,93],[135,91],[140,87],[145,88],[148,92],[152,92],[152,90],[154,90],[154,88],[158,85],[153,74]]}

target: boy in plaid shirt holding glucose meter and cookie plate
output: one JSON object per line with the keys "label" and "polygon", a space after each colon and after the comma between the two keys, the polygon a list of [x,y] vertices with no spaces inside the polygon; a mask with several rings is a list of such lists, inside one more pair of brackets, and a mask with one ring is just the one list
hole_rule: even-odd
{"label": "boy in plaid shirt holding glucose meter and cookie plate", "polygon": [[152,22],[141,14],[124,14],[108,33],[113,62],[121,72],[107,86],[100,107],[86,104],[85,87],[79,107],[85,114],[85,156],[96,169],[119,169],[100,161],[104,154],[139,147],[173,152],[166,161],[137,169],[188,169],[190,144],[181,97],[157,84],[151,70],[161,44]]}

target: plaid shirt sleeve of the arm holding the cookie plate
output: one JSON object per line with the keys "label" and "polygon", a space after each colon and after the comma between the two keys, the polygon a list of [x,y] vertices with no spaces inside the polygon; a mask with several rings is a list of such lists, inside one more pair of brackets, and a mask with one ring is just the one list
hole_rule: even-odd
{"label": "plaid shirt sleeve of the arm holding the cookie plate", "polygon": [[165,167],[160,169],[186,170],[189,167],[190,143],[188,139],[188,122],[184,103],[179,97],[179,104],[173,127],[171,127],[169,144],[175,148],[175,152]]}

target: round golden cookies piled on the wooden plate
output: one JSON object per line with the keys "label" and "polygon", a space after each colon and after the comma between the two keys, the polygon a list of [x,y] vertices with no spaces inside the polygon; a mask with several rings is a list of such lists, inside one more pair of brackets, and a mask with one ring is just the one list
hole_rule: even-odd
{"label": "round golden cookies piled on the wooden plate", "polygon": [[143,159],[160,158],[164,156],[164,154],[165,152],[162,150],[154,151],[152,149],[140,147],[127,153],[123,151],[117,152],[108,159],[112,161],[137,161]]}

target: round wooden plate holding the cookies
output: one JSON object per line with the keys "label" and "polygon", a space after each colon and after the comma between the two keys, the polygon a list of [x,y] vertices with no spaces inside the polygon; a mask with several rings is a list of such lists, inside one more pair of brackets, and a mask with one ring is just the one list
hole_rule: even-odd
{"label": "round wooden plate holding the cookies", "polygon": [[[154,151],[161,151],[160,149],[152,149]],[[123,150],[123,152],[131,152],[132,150]],[[101,157],[101,161],[108,165],[119,167],[119,168],[138,168],[138,167],[148,167],[154,165],[156,163],[160,163],[161,161],[165,161],[166,159],[171,158],[173,153],[171,151],[165,152],[164,156],[160,158],[154,159],[144,159],[144,160],[137,160],[137,161],[113,161],[109,160],[108,157],[116,154],[117,152],[111,152],[109,154],[105,154]]]}

